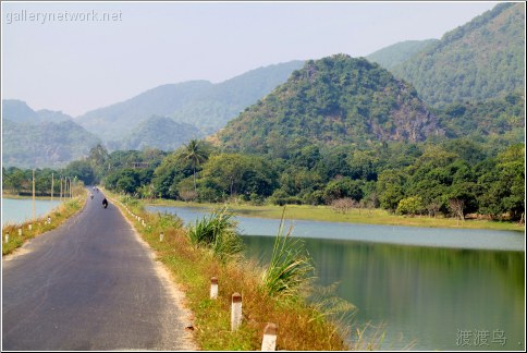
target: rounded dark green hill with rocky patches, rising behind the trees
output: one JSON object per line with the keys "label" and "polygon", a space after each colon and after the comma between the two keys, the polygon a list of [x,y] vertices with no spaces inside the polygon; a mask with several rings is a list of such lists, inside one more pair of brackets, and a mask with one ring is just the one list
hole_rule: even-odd
{"label": "rounded dark green hill with rocky patches, rising behind the trees", "polygon": [[407,83],[364,58],[309,60],[212,139],[228,149],[282,155],[291,144],[371,144],[442,135]]}

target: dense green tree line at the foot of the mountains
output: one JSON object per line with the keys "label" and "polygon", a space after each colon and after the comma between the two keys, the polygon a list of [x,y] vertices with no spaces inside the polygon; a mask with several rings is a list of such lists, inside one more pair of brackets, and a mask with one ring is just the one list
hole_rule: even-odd
{"label": "dense green tree line at the foot of the mountains", "polygon": [[[98,145],[63,170],[36,173],[37,193],[50,190],[52,172],[150,199],[383,208],[459,219],[520,220],[525,211],[525,145],[497,148],[469,138],[381,143],[368,150],[297,142],[289,159],[225,153],[196,139],[172,153],[108,153]],[[27,188],[30,171],[2,173],[4,190]]]}

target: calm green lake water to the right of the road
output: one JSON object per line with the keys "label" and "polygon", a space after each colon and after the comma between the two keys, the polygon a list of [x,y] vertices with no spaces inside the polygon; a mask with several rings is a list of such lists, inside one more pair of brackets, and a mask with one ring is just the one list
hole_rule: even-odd
{"label": "calm green lake water to the right of the road", "polygon": [[[206,215],[150,210],[176,212],[185,223]],[[279,221],[236,219],[247,255],[265,263]],[[293,223],[319,284],[339,282],[336,294],[357,306],[358,325],[384,325],[383,350],[412,342],[413,350],[525,350],[523,233]]]}

